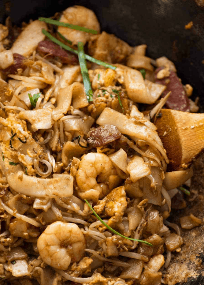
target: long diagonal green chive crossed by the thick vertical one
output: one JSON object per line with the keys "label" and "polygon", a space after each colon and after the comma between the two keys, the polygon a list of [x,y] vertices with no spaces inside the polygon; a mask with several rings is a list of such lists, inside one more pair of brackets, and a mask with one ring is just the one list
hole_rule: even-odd
{"label": "long diagonal green chive crossed by the thick vertical one", "polygon": [[[42,29],[42,33],[43,33],[46,37],[48,37],[49,39],[51,39],[54,43],[57,43],[59,46],[63,47],[65,50],[71,51],[71,52],[73,52],[74,54],[78,54],[78,51],[76,51],[76,50],[74,50],[73,48],[71,48],[71,47],[65,45],[64,43],[62,43],[61,41],[59,41],[58,39],[56,39],[54,36],[52,36],[50,33],[48,33],[45,29]],[[106,62],[102,62],[101,60],[95,59],[95,58],[93,58],[93,57],[90,56],[90,55],[85,54],[85,58],[86,58],[87,60],[91,61],[91,62],[94,62],[94,63],[98,64],[98,65],[102,65],[102,66],[105,66],[105,67],[107,67],[107,68],[111,68],[111,69],[113,69],[113,70],[116,69],[116,66],[113,66],[113,65],[111,65],[111,64],[108,64],[108,63],[106,63]]]}

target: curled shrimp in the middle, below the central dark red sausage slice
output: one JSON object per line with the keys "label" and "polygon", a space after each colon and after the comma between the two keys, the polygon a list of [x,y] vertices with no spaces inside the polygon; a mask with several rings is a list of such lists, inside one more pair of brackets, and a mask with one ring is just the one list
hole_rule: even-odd
{"label": "curled shrimp in the middle, below the central dark red sausage slice", "polygon": [[[110,183],[112,177],[117,179],[116,169],[104,153],[90,152],[82,157],[76,173],[77,190],[81,199],[102,199],[116,186]],[[97,180],[98,182],[97,182]]]}

